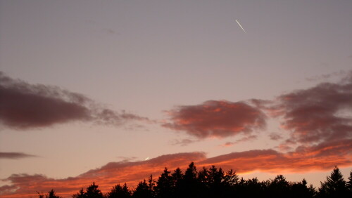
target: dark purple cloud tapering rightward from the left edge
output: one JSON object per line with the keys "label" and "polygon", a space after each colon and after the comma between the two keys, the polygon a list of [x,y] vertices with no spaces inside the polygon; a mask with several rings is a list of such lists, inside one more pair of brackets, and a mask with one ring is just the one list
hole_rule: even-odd
{"label": "dark purple cloud tapering rightward from the left edge", "polygon": [[0,72],[0,123],[4,126],[27,129],[69,121],[120,125],[127,120],[148,119],[101,107],[80,93],[27,84]]}

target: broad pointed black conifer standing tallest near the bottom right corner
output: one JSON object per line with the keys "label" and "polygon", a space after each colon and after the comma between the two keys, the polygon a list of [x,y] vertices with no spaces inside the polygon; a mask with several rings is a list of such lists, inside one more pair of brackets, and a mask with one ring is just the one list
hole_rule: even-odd
{"label": "broad pointed black conifer standing tallest near the bottom right corner", "polygon": [[327,176],[327,180],[324,183],[320,182],[318,197],[348,197],[347,192],[346,181],[339,168],[335,166],[330,176]]}

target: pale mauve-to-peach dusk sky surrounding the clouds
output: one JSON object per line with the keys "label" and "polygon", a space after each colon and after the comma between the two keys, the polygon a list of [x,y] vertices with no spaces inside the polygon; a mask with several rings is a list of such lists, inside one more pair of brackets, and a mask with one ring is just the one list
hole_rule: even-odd
{"label": "pale mauve-to-peach dusk sky surrounding the clouds", "polygon": [[[50,125],[34,124],[25,130],[9,127],[1,119],[0,152],[35,157],[0,158],[0,179],[13,173],[74,177],[121,161],[120,157],[143,161],[163,154],[204,152],[211,158],[250,150],[292,152],[298,146],[324,144],[326,138],[322,137],[315,138],[320,142],[297,143],[290,145],[291,150],[280,150],[288,138],[299,134],[298,138],[304,139],[306,133],[294,125],[300,114],[289,114],[296,106],[280,97],[301,93],[301,102],[295,104],[303,108],[314,104],[304,98],[318,100],[315,97],[329,95],[310,91],[336,90],[324,85],[319,89],[322,82],[339,88],[351,85],[351,80],[340,82],[352,77],[348,73],[352,69],[351,20],[352,1],[348,0],[0,1],[0,72],[4,77],[30,88],[42,85],[78,93],[91,105],[73,105],[85,105],[95,113],[94,119],[51,120]],[[8,90],[1,93],[10,93]],[[43,99],[42,93],[35,94]],[[346,86],[344,94],[348,98],[351,87]],[[62,98],[54,99],[58,102]],[[270,116],[270,107],[265,105],[258,107],[268,116],[265,129],[251,128],[250,135],[256,138],[236,131],[236,136],[199,139],[187,128],[194,123],[180,125],[170,115],[181,107],[199,107],[209,100],[257,108],[251,99],[286,105],[287,109],[277,110],[287,111],[287,117]],[[320,105],[335,101],[325,99]],[[9,107],[10,103],[6,104]],[[123,121],[102,124],[101,110],[111,110]],[[326,115],[341,115],[339,124],[351,134],[351,106],[337,104],[334,110]],[[170,123],[182,127],[164,127]],[[211,124],[207,127],[215,130]],[[301,131],[293,131],[297,128]],[[310,137],[335,134],[312,128]],[[336,133],[337,139],[351,141],[345,132]],[[225,143],[233,144],[224,147]],[[345,178],[351,168],[341,169]],[[318,186],[328,173],[310,170],[286,176],[289,180],[304,177]],[[267,179],[275,174],[262,171],[246,176]],[[0,186],[6,184],[11,183],[0,180]]]}

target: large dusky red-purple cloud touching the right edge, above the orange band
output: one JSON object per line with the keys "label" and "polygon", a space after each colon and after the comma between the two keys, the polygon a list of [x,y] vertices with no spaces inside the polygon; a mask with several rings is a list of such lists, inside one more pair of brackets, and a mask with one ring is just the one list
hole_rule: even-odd
{"label": "large dusky red-purple cloud touching the right edge, above the orange band", "polygon": [[272,107],[272,112],[284,118],[282,128],[291,131],[291,141],[320,143],[352,138],[352,78],[344,81],[279,96],[279,105]]}

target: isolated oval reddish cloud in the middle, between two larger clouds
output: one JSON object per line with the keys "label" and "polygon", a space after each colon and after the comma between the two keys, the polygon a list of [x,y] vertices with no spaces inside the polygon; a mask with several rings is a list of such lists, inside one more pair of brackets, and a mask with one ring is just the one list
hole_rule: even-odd
{"label": "isolated oval reddish cloud in the middle, between two larger clouds", "polygon": [[201,105],[180,106],[169,113],[172,122],[163,126],[197,138],[225,138],[265,128],[265,114],[242,102],[209,100]]}

